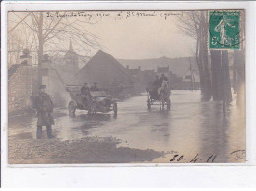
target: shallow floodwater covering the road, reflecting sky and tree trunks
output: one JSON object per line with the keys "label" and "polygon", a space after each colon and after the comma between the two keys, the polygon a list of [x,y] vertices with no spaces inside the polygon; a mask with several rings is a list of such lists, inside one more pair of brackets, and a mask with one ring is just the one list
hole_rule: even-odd
{"label": "shallow floodwater covering the road, reflecting sky and tree trunks", "polygon": [[[241,162],[245,155],[244,111],[233,103],[226,117],[221,102],[201,102],[199,91],[173,91],[171,110],[147,110],[147,95],[118,102],[118,116],[56,109],[53,134],[60,140],[113,137],[118,147],[164,151],[152,162]],[[10,117],[9,140],[35,139],[36,118]],[[44,132],[45,133],[45,132]],[[45,133],[46,134],[46,133]],[[171,161],[170,161],[171,160]]]}

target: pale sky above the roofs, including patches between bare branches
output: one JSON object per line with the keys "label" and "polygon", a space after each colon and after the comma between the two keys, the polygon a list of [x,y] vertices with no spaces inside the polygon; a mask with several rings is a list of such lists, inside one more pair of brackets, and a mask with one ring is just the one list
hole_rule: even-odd
{"label": "pale sky above the roofs, including patches between bare branches", "polygon": [[[16,14],[22,18],[25,13]],[[88,20],[90,15],[91,21],[96,21],[94,25],[88,24],[86,29],[98,37],[100,48],[93,50],[89,56],[101,49],[118,59],[148,59],[193,55],[195,40],[184,35],[177,27],[177,15],[180,14],[177,11],[82,11],[78,16],[78,12],[74,11],[65,17],[70,20]],[[11,21],[17,18],[12,14],[9,16],[10,29],[11,25],[15,25]],[[54,17],[57,17],[56,13],[45,20]],[[62,47],[68,49],[69,41],[63,40]],[[81,54],[78,44],[73,43],[73,47]]]}

